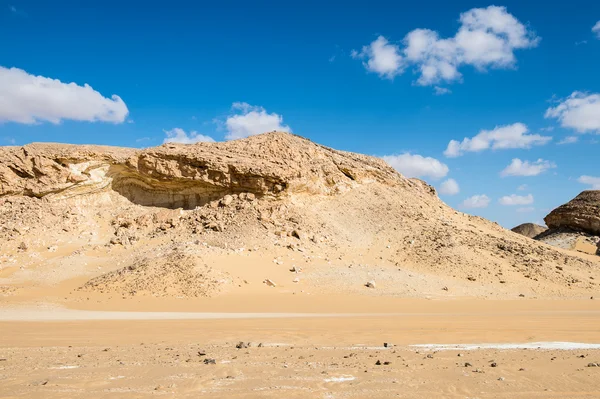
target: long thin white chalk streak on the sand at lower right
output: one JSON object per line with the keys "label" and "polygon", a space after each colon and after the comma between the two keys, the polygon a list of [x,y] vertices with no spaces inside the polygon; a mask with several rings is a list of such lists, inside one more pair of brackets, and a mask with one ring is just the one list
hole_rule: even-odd
{"label": "long thin white chalk streak on the sand at lower right", "polygon": [[600,349],[600,344],[588,344],[583,342],[527,342],[527,343],[503,343],[503,344],[419,344],[410,345],[411,348],[436,351],[453,350],[481,350],[481,349],[536,349],[536,350],[584,350]]}

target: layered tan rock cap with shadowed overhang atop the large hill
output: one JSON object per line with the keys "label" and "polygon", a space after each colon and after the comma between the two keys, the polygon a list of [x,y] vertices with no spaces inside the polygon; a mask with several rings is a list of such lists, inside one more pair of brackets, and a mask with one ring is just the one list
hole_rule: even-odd
{"label": "layered tan rock cap with shadowed overhang atop the large hill", "polygon": [[193,209],[236,193],[331,195],[371,181],[416,184],[378,158],[278,132],[145,150],[61,144],[0,147],[0,196],[60,200],[112,189],[139,205]]}

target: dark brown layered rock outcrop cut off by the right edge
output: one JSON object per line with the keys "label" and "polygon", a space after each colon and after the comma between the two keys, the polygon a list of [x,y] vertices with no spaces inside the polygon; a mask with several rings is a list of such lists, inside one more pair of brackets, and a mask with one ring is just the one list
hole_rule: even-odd
{"label": "dark brown layered rock outcrop cut off by the right edge", "polygon": [[544,218],[550,229],[569,228],[600,235],[600,190],[588,190]]}

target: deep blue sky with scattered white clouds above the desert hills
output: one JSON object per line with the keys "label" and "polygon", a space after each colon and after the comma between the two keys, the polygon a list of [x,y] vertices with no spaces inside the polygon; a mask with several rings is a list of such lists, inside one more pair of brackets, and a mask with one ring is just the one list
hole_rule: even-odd
{"label": "deep blue sky with scattered white clouds above the desert hills", "polygon": [[284,130],[507,228],[600,189],[598,1],[0,0],[0,37],[0,145]]}

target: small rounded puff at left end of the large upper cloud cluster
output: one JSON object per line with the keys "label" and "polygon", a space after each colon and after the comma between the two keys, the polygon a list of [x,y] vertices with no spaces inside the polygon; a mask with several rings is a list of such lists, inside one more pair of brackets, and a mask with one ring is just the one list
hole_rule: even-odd
{"label": "small rounded puff at left end of the large upper cloud cluster", "polygon": [[363,46],[360,53],[353,51],[352,57],[366,59],[363,62],[365,68],[382,78],[392,79],[404,71],[400,48],[388,42],[383,36],[379,36],[368,46]]}

